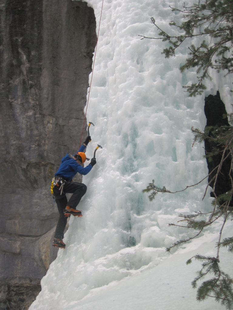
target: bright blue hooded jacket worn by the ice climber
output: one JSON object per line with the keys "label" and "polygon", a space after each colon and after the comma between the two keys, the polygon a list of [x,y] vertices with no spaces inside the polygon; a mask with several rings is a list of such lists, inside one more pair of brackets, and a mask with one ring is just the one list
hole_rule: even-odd
{"label": "bright blue hooded jacket worn by the ice climber", "polygon": [[[83,152],[85,150],[85,145],[81,145],[78,152]],[[89,164],[85,168],[78,164],[75,159],[71,158],[67,153],[65,157],[62,158],[61,165],[55,176],[61,176],[66,181],[71,181],[76,173],[80,173],[81,175],[86,175],[92,169],[92,165]]]}

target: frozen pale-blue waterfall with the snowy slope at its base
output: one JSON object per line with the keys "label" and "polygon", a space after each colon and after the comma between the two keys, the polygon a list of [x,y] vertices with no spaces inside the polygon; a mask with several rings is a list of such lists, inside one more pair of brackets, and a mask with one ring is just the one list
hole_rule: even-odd
{"label": "frozen pale-blue waterfall with the snowy slope at its base", "polygon": [[[98,27],[102,0],[87,2]],[[196,301],[191,281],[200,263],[185,264],[197,253],[214,255],[221,221],[188,245],[165,252],[193,234],[168,223],[176,223],[181,212],[211,209],[210,189],[202,201],[206,182],[182,193],[159,194],[153,202],[142,193],[152,179],[176,191],[207,175],[203,145],[192,147],[190,129],[204,129],[204,97],[217,90],[232,112],[230,77],[213,72],[208,92],[188,98],[182,85],[194,82],[196,74],[179,72],[187,49],[166,60],[164,43],[140,40],[139,35],[157,36],[151,16],[165,30],[170,20],[181,18],[169,5],[178,7],[180,1],[103,1],[87,110],[87,121],[95,125],[87,157],[97,144],[103,149],[83,177],[88,190],[78,208],[84,216],[70,220],[66,249],[50,265],[30,310],[224,309],[213,299]],[[231,226],[226,236],[232,236]],[[220,259],[233,275],[232,255],[223,250]]]}

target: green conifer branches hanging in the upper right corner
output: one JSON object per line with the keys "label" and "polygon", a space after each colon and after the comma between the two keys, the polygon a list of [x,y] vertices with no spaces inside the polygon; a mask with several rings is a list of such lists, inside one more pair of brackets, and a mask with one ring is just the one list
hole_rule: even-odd
{"label": "green conifer branches hanging in the upper right corner", "polygon": [[[173,20],[169,23],[170,26],[176,27],[179,34],[168,34],[151,17],[151,22],[159,31],[159,37],[140,37],[168,42],[168,47],[162,52],[165,58],[174,56],[176,50],[188,38],[201,37],[202,41],[198,46],[192,44],[188,47],[190,57],[180,66],[181,73],[190,68],[197,68],[197,82],[183,88],[190,97],[200,95],[206,89],[204,80],[212,80],[209,69],[216,69],[218,72],[223,70],[226,75],[233,72],[233,1],[199,0],[190,7],[184,4],[183,9],[171,9],[184,14],[181,24],[176,24]],[[208,38],[209,42],[206,40]]]}

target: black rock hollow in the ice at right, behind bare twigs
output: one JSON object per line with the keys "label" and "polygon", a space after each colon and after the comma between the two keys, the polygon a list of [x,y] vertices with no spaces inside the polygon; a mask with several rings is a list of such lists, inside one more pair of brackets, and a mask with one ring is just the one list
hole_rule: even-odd
{"label": "black rock hollow in the ice at right, behind bare twigs", "polygon": [[[212,131],[216,130],[217,127],[224,128],[229,127],[229,123],[227,120],[227,117],[223,117],[223,115],[226,115],[226,108],[224,103],[222,102],[220,98],[220,94],[217,91],[217,94],[215,96],[209,95],[205,98],[205,107],[204,107],[205,116],[207,118],[206,126],[215,126],[214,129],[212,129],[209,132],[209,136],[212,136]],[[224,149],[224,146],[219,143],[215,143],[213,141],[209,141],[208,139],[205,140],[205,152],[206,154],[211,153],[215,148],[218,148],[220,150]],[[227,155],[228,153],[226,153]],[[225,156],[226,156],[225,155]],[[209,173],[219,165],[221,162],[222,154],[217,154],[212,156],[212,160],[209,161],[207,158],[207,165]],[[231,170],[231,156],[229,156],[222,164],[221,172],[219,173],[217,177],[217,182],[215,185],[215,194],[217,197],[221,194],[226,193],[227,191],[231,190],[231,180],[229,177],[229,172]],[[216,174],[217,170],[211,173],[208,177],[208,182],[213,178],[213,176]],[[231,172],[231,176],[233,176]],[[214,180],[210,183],[210,186],[213,188],[214,186]],[[211,197],[214,197],[214,194],[211,193]]]}

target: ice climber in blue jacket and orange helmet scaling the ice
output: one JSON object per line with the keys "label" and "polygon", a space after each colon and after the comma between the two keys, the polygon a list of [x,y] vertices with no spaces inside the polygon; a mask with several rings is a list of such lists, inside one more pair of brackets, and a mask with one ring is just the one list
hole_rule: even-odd
{"label": "ice climber in blue jacket and orange helmet scaling the ice", "polygon": [[[87,190],[85,184],[73,182],[72,179],[76,173],[80,173],[81,175],[88,174],[96,164],[96,159],[92,158],[90,164],[83,167],[86,160],[84,151],[89,141],[91,141],[90,136],[86,138],[85,142],[74,156],[67,153],[66,156],[62,158],[61,165],[52,180],[51,191],[60,214],[54,234],[53,246],[62,249],[66,247],[62,239],[64,238],[67,218],[71,215],[82,216],[82,212],[76,210],[76,206]],[[73,194],[69,201],[67,201],[66,193]]]}

